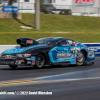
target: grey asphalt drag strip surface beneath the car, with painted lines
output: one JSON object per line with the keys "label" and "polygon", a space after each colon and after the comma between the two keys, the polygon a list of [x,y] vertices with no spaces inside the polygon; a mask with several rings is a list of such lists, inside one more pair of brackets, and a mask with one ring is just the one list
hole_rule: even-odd
{"label": "grey asphalt drag strip surface beneath the car, with painted lines", "polygon": [[[16,94],[0,94],[0,100],[100,100],[100,58],[94,65],[81,67],[19,66],[12,70],[0,66],[0,93],[4,91]],[[37,94],[29,95],[29,91]],[[40,95],[39,91],[52,95]]]}

